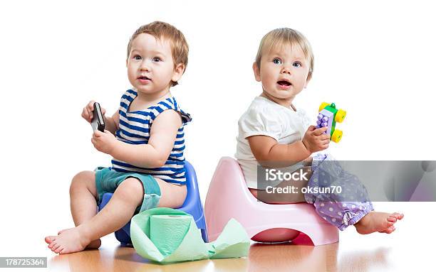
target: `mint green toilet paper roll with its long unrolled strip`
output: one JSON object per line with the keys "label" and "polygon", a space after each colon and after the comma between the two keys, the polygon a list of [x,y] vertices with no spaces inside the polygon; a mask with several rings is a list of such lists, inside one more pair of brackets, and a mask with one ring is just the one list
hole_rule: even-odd
{"label": "mint green toilet paper roll with its long unrolled strip", "polygon": [[130,223],[137,254],[159,263],[247,256],[250,239],[239,222],[230,219],[217,240],[204,243],[194,218],[179,210],[154,208]]}

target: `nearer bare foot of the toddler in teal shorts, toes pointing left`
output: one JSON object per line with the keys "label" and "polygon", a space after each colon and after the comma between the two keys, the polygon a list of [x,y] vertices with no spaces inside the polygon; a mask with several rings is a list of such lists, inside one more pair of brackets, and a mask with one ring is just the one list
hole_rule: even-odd
{"label": "nearer bare foot of the toddler in teal shorts, toes pointing left", "polygon": [[67,254],[83,251],[90,241],[81,233],[80,227],[75,227],[64,229],[58,236],[46,236],[46,243],[54,253]]}

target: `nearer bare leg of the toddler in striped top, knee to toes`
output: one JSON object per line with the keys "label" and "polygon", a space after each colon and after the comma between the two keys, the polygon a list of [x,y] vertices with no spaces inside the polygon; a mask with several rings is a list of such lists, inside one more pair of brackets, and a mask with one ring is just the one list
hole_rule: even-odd
{"label": "nearer bare leg of the toddler in striped top, knee to toes", "polygon": [[49,247],[59,254],[82,251],[91,241],[123,227],[133,216],[136,207],[141,205],[143,195],[144,189],[139,180],[124,180],[101,212],[78,227],[54,236]]}

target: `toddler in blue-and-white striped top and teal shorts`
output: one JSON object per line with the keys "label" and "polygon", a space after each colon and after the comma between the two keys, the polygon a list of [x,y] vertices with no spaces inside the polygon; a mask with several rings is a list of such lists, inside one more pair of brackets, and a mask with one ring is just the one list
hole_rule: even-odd
{"label": "toddler in blue-and-white striped top and teal shorts", "polygon": [[[170,92],[187,66],[188,45],[182,32],[155,21],[133,33],[128,43],[128,79],[133,86],[121,97],[105,131],[94,131],[94,147],[113,157],[112,167],[78,173],[71,182],[71,214],[76,227],[46,236],[58,254],[100,247],[100,237],[115,232],[133,214],[152,207],[180,207],[187,195],[184,126],[191,120]],[[83,109],[90,122],[93,104]],[[105,109],[102,108],[105,114]],[[105,192],[113,197],[98,214]]]}

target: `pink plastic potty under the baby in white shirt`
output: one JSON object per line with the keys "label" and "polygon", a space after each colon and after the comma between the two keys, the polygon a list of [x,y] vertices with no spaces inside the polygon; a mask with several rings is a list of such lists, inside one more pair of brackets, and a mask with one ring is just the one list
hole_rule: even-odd
{"label": "pink plastic potty under the baby in white shirt", "polygon": [[214,241],[229,219],[237,219],[249,237],[259,242],[292,241],[314,246],[339,240],[328,224],[307,203],[271,205],[251,195],[239,163],[224,157],[218,163],[204,205],[209,241]]}

